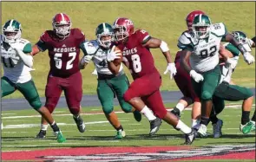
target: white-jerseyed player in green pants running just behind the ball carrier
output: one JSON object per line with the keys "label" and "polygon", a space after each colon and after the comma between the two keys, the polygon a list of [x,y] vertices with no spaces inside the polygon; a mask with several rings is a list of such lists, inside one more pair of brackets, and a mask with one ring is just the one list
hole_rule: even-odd
{"label": "white-jerseyed player in green pants running just behind the ball carrier", "polygon": [[115,73],[112,73],[108,69],[108,50],[115,48],[115,46],[112,47],[112,42],[114,41],[112,26],[108,23],[99,24],[96,28],[95,35],[97,36],[96,40],[82,44],[84,56],[80,62],[80,68],[85,68],[91,60],[94,62],[98,75],[97,94],[101,101],[103,112],[109,123],[117,131],[115,139],[122,139],[126,134],[114,112],[113,100],[115,95],[120,103],[121,109],[125,113],[134,113],[135,120],[141,121],[141,113],[135,111],[135,108],[131,107],[123,99],[123,94],[128,89],[129,83],[122,65],[120,65]]}

